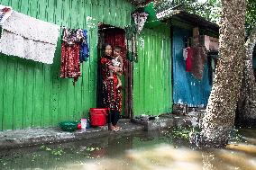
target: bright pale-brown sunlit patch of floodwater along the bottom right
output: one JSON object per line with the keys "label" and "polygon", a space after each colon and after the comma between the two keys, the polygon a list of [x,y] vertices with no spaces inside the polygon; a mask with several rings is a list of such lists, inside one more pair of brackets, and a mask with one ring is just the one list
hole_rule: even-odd
{"label": "bright pale-brown sunlit patch of floodwater along the bottom right", "polygon": [[229,170],[256,169],[255,157],[229,150],[200,152],[188,148],[161,145],[151,149],[128,151],[125,157],[91,161],[85,165],[69,166],[72,169],[113,170]]}

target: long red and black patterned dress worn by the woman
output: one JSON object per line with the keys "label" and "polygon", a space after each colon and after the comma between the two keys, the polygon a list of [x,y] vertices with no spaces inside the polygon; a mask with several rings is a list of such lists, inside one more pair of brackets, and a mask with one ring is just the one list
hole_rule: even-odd
{"label": "long red and black patterned dress worn by the woman", "polygon": [[108,56],[101,58],[101,73],[103,76],[103,104],[112,111],[122,111],[122,91],[116,88],[118,79],[114,74],[114,79],[109,79],[110,72],[108,66],[112,65],[111,58]]}

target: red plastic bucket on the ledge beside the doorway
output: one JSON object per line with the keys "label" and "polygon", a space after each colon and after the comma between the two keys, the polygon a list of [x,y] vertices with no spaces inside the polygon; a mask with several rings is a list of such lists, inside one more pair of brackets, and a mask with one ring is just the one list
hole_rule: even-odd
{"label": "red plastic bucket on the ledge beside the doorway", "polygon": [[92,126],[104,126],[106,123],[107,109],[106,108],[91,108],[90,117]]}

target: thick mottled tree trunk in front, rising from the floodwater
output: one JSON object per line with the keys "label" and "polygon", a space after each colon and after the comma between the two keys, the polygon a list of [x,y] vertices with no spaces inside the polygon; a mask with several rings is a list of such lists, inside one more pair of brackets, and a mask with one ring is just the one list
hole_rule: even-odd
{"label": "thick mottled tree trunk in front, rising from the floodwater", "polygon": [[222,0],[220,60],[197,144],[223,147],[233,128],[242,85],[245,0]]}

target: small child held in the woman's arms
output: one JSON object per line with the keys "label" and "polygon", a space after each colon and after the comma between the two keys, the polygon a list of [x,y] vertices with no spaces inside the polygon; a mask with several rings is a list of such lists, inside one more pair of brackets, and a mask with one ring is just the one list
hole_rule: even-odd
{"label": "small child held in the woman's arms", "polygon": [[[123,67],[123,58],[121,57],[121,47],[115,46],[114,47],[114,58],[111,60],[112,61],[112,66],[114,67]],[[118,80],[118,85],[116,88],[119,88],[122,86],[122,82],[119,76],[121,76],[121,73],[116,73],[117,74],[117,80]],[[113,79],[113,70],[110,70],[110,79]]]}

